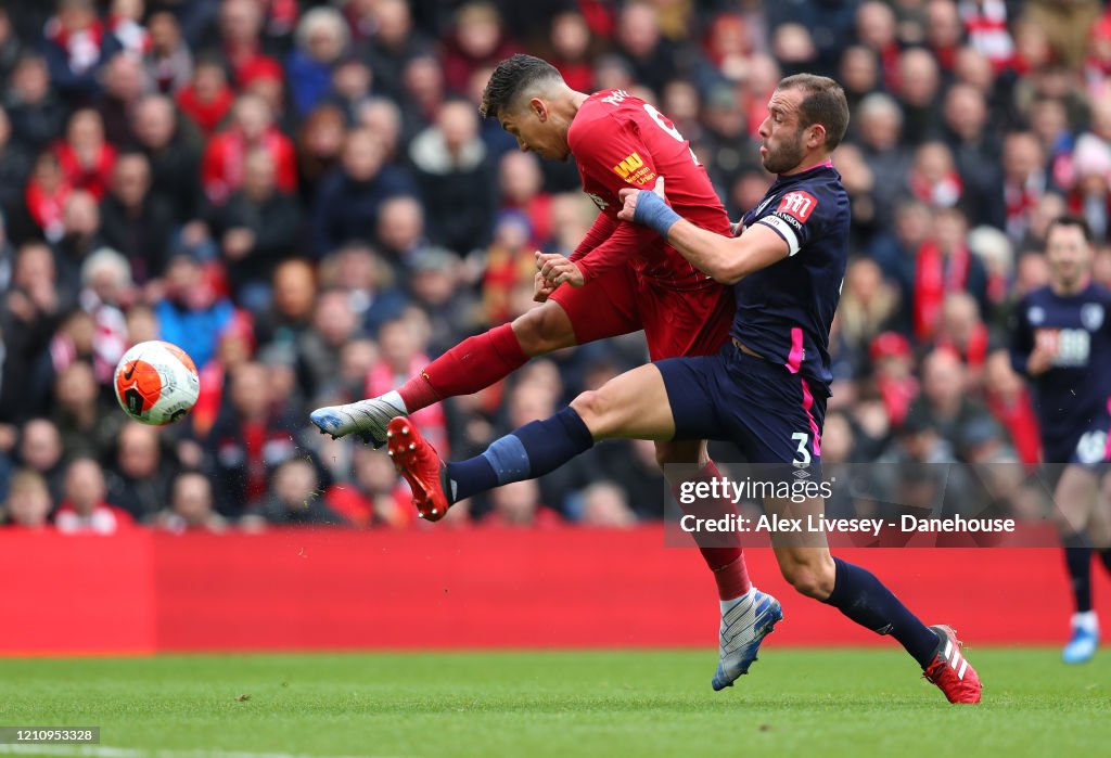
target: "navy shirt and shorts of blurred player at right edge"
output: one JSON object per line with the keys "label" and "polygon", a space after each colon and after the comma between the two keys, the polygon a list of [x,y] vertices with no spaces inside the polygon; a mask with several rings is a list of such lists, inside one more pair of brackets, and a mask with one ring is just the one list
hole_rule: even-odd
{"label": "navy shirt and shorts of blurred player at right edge", "polygon": [[1111,396],[1111,291],[1090,284],[1075,295],[1060,296],[1050,287],[1028,294],[1014,315],[1011,363],[1025,374],[1039,341],[1057,346],[1051,367],[1032,377],[1042,445],[1049,463],[1053,451],[1098,424]]}

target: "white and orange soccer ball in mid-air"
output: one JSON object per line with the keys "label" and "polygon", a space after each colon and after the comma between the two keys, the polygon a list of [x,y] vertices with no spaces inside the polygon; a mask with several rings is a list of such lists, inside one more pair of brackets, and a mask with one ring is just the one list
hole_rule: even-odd
{"label": "white and orange soccer ball in mid-air", "polygon": [[124,353],[113,385],[123,412],[151,426],[184,418],[201,391],[193,360],[177,345],[159,340],[140,342]]}

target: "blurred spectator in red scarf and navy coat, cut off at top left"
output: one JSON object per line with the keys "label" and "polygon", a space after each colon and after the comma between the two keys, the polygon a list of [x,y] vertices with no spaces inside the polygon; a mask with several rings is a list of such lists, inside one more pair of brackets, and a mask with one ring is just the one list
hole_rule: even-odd
{"label": "blurred spectator in red scarf and navy coat, cut off at top left", "polygon": [[100,68],[122,50],[97,16],[92,0],[59,0],[58,13],[43,29],[42,51],[52,85],[70,102],[100,93]]}

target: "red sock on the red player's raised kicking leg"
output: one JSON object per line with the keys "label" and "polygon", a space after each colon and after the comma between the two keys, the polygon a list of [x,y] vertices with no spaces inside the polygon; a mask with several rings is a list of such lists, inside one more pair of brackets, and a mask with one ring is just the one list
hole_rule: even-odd
{"label": "red sock on the red player's raised kicking leg", "polygon": [[511,324],[463,340],[406,382],[398,394],[406,411],[416,413],[446,397],[470,395],[506,378],[529,356],[521,350]]}

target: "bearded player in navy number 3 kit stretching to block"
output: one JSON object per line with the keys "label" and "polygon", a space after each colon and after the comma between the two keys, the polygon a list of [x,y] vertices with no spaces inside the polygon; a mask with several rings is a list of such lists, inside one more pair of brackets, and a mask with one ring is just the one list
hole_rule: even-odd
{"label": "bearded player in navy number 3 kit stretching to block", "polygon": [[[418,509],[442,511],[478,492],[541,476],[607,437],[731,439],[751,463],[772,465],[781,482],[800,475],[820,481],[832,378],[829,332],[849,246],[849,196],[830,153],[844,135],[849,105],[831,79],[798,74],[779,83],[768,112],[760,154],[779,178],[744,216],[741,236],[682,220],[653,192],[621,192],[620,218],[655,230],[700,271],[735,284],[735,317],[722,350],[627,372],[460,463],[442,463],[409,420],[394,418],[390,454]],[[790,498],[764,499],[769,516],[817,515],[822,507],[820,498],[801,507]],[[792,542],[772,544],[795,589],[893,636],[951,703],[980,701],[980,678],[951,628],[923,625],[875,576],[833,558],[823,534]],[[729,618],[743,627],[735,644],[745,670],[780,618],[779,604],[765,598],[758,594]]]}

